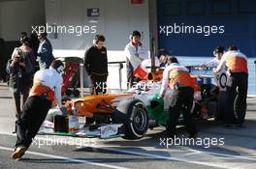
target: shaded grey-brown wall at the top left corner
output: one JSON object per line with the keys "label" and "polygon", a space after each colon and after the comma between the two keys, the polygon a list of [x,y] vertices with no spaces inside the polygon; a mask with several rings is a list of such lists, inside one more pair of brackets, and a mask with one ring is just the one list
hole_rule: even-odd
{"label": "shaded grey-brown wall at the top left corner", "polygon": [[20,32],[32,31],[32,25],[45,23],[45,1],[4,1],[0,2],[0,36],[5,41],[17,41]]}

